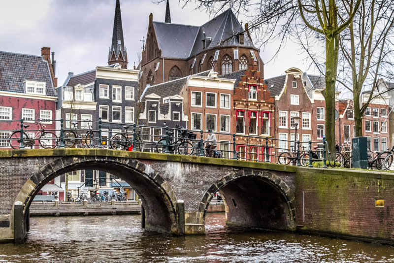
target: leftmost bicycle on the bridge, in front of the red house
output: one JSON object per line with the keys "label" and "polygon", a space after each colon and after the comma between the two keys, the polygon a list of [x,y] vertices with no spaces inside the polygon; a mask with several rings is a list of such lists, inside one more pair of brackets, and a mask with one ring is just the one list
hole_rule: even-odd
{"label": "leftmost bicycle on the bridge, in front of the red house", "polygon": [[[58,146],[59,139],[53,132],[45,132],[44,128],[45,125],[42,125],[41,122],[36,123],[35,125],[39,125],[40,129],[31,137],[29,135],[29,131],[27,128],[30,127],[28,124],[24,124],[23,128],[25,128],[23,132],[23,143],[25,146],[30,146],[33,149],[35,145],[35,140],[38,139],[39,144],[44,149],[54,149]],[[19,149],[21,145],[21,132],[15,131],[12,132],[11,135],[8,137],[8,143],[12,149]]]}

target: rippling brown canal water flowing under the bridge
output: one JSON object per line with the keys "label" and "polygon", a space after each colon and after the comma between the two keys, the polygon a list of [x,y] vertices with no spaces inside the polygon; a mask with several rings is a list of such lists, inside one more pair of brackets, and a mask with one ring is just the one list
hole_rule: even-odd
{"label": "rippling brown canal water flowing under the bridge", "polygon": [[209,213],[205,236],[140,228],[139,215],[32,217],[24,245],[0,244],[0,262],[394,262],[394,247],[225,226]]}

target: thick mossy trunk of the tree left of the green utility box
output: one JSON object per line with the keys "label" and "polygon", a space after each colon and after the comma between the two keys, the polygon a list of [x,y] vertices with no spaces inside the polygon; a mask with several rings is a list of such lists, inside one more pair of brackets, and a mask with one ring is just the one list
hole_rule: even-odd
{"label": "thick mossy trunk of the tree left of the green utility box", "polygon": [[326,140],[328,150],[335,151],[335,81],[338,65],[338,36],[326,36]]}

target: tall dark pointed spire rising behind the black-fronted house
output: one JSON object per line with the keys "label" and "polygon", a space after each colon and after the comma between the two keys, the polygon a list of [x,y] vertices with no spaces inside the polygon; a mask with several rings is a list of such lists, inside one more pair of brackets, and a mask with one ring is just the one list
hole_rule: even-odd
{"label": "tall dark pointed spire rising behind the black-fronted house", "polygon": [[109,48],[108,65],[119,63],[122,68],[127,68],[127,51],[123,41],[122,16],[120,2],[116,0],[114,30],[112,33],[112,45]]}

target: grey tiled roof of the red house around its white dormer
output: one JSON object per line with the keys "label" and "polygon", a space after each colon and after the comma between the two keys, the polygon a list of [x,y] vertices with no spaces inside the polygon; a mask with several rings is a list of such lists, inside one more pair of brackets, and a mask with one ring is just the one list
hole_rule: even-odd
{"label": "grey tiled roof of the red house around its white dormer", "polygon": [[26,93],[25,80],[46,82],[46,95],[56,96],[49,65],[41,56],[0,51],[0,90]]}

